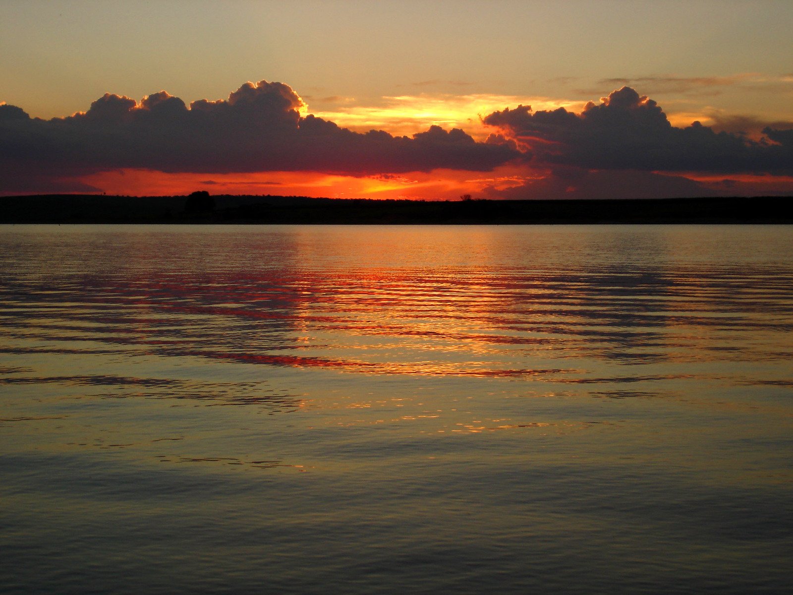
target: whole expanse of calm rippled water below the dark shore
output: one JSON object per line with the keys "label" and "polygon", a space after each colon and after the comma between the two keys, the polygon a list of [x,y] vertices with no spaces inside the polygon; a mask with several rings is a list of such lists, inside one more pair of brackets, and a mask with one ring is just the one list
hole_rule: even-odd
{"label": "whole expanse of calm rippled water below the dark shore", "polygon": [[789,593],[793,227],[0,227],[0,593]]}

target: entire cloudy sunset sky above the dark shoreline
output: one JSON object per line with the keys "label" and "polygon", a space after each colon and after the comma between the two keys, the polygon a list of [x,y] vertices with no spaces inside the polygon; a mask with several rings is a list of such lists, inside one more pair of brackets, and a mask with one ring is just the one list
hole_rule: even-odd
{"label": "entire cloudy sunset sky above the dark shoreline", "polygon": [[3,195],[793,195],[789,0],[0,8]]}

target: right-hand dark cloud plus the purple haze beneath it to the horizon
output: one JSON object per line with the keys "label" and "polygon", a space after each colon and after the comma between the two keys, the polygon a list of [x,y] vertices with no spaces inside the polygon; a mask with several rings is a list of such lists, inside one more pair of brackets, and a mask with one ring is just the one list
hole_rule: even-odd
{"label": "right-hand dark cloud plus the purple haze beneath it to the horizon", "polygon": [[[698,121],[676,128],[656,102],[627,86],[598,104],[589,102],[581,113],[564,108],[533,112],[531,106],[518,106],[483,121],[530,146],[533,163],[550,170],[542,180],[493,193],[504,198],[757,194],[757,186],[741,185],[729,176],[793,175],[793,130],[766,127],[760,140],[752,140],[744,132],[715,132]],[[725,178],[715,189],[676,175],[684,173]],[[764,192],[778,194],[770,184],[760,188]]]}

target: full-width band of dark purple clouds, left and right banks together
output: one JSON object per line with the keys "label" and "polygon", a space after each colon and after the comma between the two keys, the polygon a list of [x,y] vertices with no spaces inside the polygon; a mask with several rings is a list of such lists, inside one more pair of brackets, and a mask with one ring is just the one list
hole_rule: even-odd
{"label": "full-width band of dark purple clouds, left and right banks together", "polygon": [[501,134],[487,143],[438,126],[412,137],[351,132],[301,117],[302,106],[289,86],[266,81],[190,107],[164,91],[140,103],[105,94],[86,113],[48,121],[2,105],[0,192],[86,191],[79,176],[120,168],[372,175],[490,171],[519,160],[551,171],[541,182],[496,193],[508,198],[557,197],[571,189],[578,196],[694,196],[707,191],[668,174],[793,175],[793,130],[765,128],[752,140],[699,122],[676,128],[656,102],[630,87],[588,103],[580,114],[530,106],[491,113],[483,121]]}

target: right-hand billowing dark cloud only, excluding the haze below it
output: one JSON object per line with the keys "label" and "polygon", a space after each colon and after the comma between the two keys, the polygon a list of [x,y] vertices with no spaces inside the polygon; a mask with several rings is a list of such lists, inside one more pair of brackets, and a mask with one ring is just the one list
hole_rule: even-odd
{"label": "right-hand billowing dark cloud only, excluding the haze below it", "polygon": [[751,140],[698,121],[676,128],[656,102],[627,86],[600,103],[588,102],[580,113],[518,106],[483,121],[531,148],[535,163],[593,170],[793,173],[788,131],[766,128],[762,139]]}

